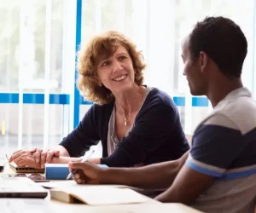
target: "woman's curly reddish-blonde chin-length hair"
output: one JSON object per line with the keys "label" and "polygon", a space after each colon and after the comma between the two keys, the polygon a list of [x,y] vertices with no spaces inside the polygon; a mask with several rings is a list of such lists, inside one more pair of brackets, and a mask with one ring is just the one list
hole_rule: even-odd
{"label": "woman's curly reddish-blonde chin-length hair", "polygon": [[143,84],[143,55],[137,51],[136,45],[119,32],[109,31],[93,37],[90,42],[79,50],[78,55],[78,88],[80,94],[96,104],[106,104],[113,99],[113,93],[104,85],[100,86],[97,77],[97,66],[102,56],[110,57],[116,50],[116,45],[123,46],[129,55],[135,72],[135,83]]}

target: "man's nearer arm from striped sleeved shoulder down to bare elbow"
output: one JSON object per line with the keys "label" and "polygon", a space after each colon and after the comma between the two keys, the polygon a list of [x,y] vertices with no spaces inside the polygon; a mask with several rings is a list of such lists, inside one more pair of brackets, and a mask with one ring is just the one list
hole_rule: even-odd
{"label": "man's nearer arm from striped sleeved shoulder down to bare elbow", "polygon": [[222,114],[212,116],[195,130],[190,157],[172,186],[156,199],[162,202],[193,203],[211,187],[215,178],[224,175],[246,146],[241,131],[230,118]]}

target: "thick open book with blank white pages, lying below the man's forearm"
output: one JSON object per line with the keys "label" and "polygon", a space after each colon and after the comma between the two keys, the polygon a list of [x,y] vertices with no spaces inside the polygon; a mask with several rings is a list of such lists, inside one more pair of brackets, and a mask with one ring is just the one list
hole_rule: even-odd
{"label": "thick open book with blank white pages, lying below the man's forearm", "polygon": [[143,203],[147,200],[146,197],[130,188],[106,185],[77,185],[77,187],[53,188],[50,189],[50,198],[66,203],[79,201],[90,205],[134,204]]}

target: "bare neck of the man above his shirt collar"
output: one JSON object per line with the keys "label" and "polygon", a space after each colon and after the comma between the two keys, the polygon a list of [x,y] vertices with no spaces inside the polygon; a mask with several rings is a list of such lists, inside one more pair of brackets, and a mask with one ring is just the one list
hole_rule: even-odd
{"label": "bare neck of the man above his shirt collar", "polygon": [[209,87],[207,98],[211,101],[212,107],[214,108],[218,105],[218,102],[222,101],[230,92],[241,87],[243,87],[241,78],[218,81],[218,83],[212,83]]}

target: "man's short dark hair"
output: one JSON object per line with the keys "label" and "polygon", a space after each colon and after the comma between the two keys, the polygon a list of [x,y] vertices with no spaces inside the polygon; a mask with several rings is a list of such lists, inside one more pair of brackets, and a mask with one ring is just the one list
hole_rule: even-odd
{"label": "man's short dark hair", "polygon": [[224,17],[207,17],[198,22],[189,35],[189,52],[192,60],[203,51],[230,78],[240,78],[247,55],[247,39],[233,20]]}

